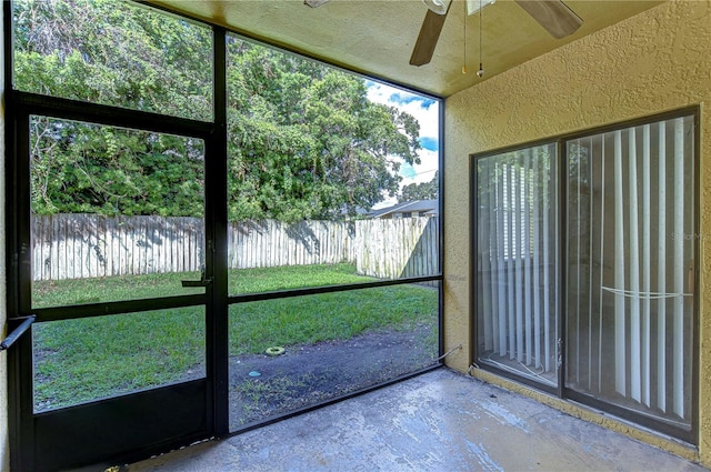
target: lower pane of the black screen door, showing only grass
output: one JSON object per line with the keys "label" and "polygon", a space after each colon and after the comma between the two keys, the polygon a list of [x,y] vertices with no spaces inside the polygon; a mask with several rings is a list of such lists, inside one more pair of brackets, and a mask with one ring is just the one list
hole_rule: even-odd
{"label": "lower pane of the black screen door, showing only grass", "polygon": [[206,376],[204,308],[39,323],[34,412]]}

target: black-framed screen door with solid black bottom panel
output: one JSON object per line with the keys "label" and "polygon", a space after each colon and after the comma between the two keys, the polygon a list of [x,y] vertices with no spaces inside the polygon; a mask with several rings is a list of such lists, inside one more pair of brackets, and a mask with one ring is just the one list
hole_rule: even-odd
{"label": "black-framed screen door with solid black bottom panel", "polygon": [[21,353],[22,470],[209,438],[208,128],[26,117],[20,311],[37,322]]}

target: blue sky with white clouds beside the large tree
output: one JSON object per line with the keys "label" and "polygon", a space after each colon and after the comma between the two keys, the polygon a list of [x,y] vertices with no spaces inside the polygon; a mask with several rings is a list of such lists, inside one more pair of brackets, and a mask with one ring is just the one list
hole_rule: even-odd
{"label": "blue sky with white clouds beside the large tree", "polygon": [[[439,165],[439,102],[372,80],[368,80],[365,86],[368,87],[368,98],[371,101],[407,111],[420,123],[419,140],[422,149],[418,155],[421,162],[414,165],[407,162],[401,163],[400,175],[403,178],[401,185],[432,180]],[[393,203],[394,200],[390,199],[378,207]]]}

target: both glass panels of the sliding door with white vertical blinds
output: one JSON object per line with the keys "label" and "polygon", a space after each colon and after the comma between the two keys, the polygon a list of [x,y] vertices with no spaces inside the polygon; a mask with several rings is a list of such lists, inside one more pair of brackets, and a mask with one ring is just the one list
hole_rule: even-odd
{"label": "both glass panels of the sliding door with white vertical blinds", "polygon": [[694,116],[558,145],[475,161],[478,361],[548,389],[560,368],[563,394],[683,436],[694,394]]}

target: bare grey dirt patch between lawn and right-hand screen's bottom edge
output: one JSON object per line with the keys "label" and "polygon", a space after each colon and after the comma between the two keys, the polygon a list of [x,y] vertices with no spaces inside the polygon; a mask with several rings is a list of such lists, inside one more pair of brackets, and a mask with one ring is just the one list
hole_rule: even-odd
{"label": "bare grey dirt patch between lawn and right-hand screen's bottom edge", "polygon": [[433,364],[431,325],[230,359],[230,429],[313,405]]}

